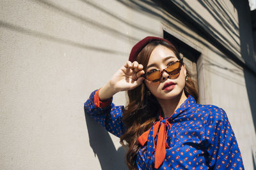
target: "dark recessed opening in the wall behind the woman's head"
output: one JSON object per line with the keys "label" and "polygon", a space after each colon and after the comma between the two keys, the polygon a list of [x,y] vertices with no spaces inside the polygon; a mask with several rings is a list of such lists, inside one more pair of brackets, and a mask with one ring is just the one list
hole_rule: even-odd
{"label": "dark recessed opening in the wall behind the woman's head", "polygon": [[199,56],[201,55],[201,53],[195,50],[194,48],[192,48],[191,46],[187,45],[180,39],[176,38],[175,36],[172,36],[166,31],[164,31],[164,38],[168,39],[168,41],[173,43],[173,45],[179,51],[180,57],[184,57],[183,59],[184,64],[186,68],[189,70],[192,80],[195,81],[196,89],[199,90],[196,62]]}

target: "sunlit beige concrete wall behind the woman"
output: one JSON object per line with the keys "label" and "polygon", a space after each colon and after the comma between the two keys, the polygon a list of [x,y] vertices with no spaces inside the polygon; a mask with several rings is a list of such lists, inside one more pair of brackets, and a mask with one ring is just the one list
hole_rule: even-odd
{"label": "sunlit beige concrete wall behind the woman", "polygon": [[[83,103],[125,63],[134,43],[163,36],[163,29],[200,49],[202,103],[227,112],[244,167],[253,168],[255,74],[179,16],[152,1],[0,3],[0,169],[126,169],[119,139],[86,117]],[[216,26],[202,4],[188,4]],[[224,5],[235,25],[246,17],[236,4]],[[235,40],[243,50],[241,38]],[[114,103],[125,104],[124,93]]]}

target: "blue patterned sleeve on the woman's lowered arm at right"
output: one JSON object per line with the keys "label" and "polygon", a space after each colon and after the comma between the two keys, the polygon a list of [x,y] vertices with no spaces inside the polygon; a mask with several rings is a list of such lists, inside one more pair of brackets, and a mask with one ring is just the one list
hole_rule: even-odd
{"label": "blue patterned sleeve on the woman's lowered arm at right", "polygon": [[221,108],[210,111],[205,127],[207,163],[213,169],[244,169],[236,137]]}

